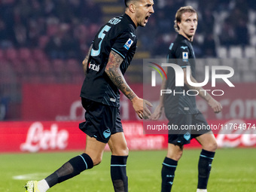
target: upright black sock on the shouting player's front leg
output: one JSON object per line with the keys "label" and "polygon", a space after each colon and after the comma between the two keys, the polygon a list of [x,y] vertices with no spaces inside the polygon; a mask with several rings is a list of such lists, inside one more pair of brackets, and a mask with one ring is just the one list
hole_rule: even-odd
{"label": "upright black sock on the shouting player's front leg", "polygon": [[128,191],[126,161],[128,156],[111,156],[111,179],[115,192]]}

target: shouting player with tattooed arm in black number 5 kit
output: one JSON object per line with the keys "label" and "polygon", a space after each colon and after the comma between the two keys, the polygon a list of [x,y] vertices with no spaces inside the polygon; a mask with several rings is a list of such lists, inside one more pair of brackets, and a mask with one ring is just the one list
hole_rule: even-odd
{"label": "shouting player with tattooed arm in black number 5 kit", "polygon": [[56,172],[41,181],[28,181],[27,192],[45,192],[50,187],[91,169],[102,160],[105,145],[111,149],[111,179],[114,191],[128,191],[126,160],[128,148],[120,121],[120,93],[130,99],[140,118],[148,118],[151,103],[136,96],[126,84],[123,74],[136,52],[136,27],[146,26],[154,13],[153,0],[126,0],[125,14],[109,20],[96,34],[83,61],[84,84],[82,105],[86,109],[79,128],[87,134],[83,154],[64,163]]}

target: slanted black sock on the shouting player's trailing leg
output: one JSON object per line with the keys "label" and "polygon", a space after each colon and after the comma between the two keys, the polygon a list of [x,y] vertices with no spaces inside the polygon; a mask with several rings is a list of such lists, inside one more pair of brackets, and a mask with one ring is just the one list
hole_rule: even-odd
{"label": "slanted black sock on the shouting player's trailing leg", "polygon": [[91,168],[93,168],[93,160],[89,155],[81,154],[62,165],[56,172],[45,178],[45,181],[47,181],[49,187],[53,187],[53,185],[75,177],[75,175],[79,175],[85,169]]}

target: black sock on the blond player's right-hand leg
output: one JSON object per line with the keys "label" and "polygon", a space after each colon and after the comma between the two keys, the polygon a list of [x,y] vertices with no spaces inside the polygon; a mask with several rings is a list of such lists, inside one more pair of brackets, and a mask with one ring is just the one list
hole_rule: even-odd
{"label": "black sock on the blond player's right-hand leg", "polygon": [[206,189],[215,152],[202,150],[198,162],[198,189]]}

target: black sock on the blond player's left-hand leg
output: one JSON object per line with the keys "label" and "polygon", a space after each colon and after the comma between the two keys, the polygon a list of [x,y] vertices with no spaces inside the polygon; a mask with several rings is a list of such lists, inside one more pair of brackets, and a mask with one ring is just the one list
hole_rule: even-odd
{"label": "black sock on the blond player's left-hand leg", "polygon": [[174,179],[175,169],[177,167],[178,161],[172,160],[166,157],[163,160],[162,168],[162,192],[169,192],[172,190],[172,183]]}

